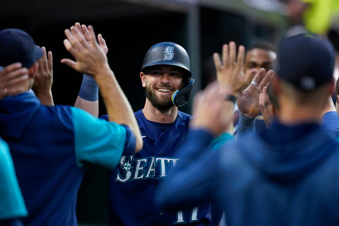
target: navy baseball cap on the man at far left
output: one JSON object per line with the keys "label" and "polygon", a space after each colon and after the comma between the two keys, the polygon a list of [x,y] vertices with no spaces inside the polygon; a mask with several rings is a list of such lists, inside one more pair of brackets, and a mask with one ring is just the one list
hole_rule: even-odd
{"label": "navy baseball cap on the man at far left", "polygon": [[42,54],[41,48],[23,30],[0,30],[0,66],[20,62],[23,67],[29,68]]}

